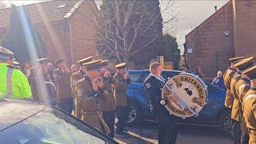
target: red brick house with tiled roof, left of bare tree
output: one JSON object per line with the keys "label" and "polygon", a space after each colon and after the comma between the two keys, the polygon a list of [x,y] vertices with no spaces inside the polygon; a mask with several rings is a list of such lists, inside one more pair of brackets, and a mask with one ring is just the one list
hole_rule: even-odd
{"label": "red brick house with tiled roof, left of bare tree", "polygon": [[[98,8],[94,1],[48,1],[25,6],[46,44],[46,57],[63,57],[69,63],[96,54],[94,26]],[[10,26],[10,10],[0,10],[0,38]]]}

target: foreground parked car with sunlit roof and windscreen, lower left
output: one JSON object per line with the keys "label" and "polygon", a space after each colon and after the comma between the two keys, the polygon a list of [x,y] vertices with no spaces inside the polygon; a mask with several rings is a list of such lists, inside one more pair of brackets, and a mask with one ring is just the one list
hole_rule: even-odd
{"label": "foreground parked car with sunlit roof and windscreen, lower left", "polygon": [[53,106],[25,99],[0,102],[0,143],[118,143]]}

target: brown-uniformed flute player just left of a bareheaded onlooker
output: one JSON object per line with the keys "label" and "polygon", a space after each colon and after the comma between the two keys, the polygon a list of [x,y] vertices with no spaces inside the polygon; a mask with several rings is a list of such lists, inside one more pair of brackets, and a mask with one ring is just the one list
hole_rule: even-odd
{"label": "brown-uniformed flute player just left of a bareheaded onlooker", "polygon": [[73,100],[70,88],[71,72],[66,66],[65,59],[58,58],[55,63],[58,66],[58,69],[54,70],[54,80],[57,85],[58,107],[71,114],[73,110]]}

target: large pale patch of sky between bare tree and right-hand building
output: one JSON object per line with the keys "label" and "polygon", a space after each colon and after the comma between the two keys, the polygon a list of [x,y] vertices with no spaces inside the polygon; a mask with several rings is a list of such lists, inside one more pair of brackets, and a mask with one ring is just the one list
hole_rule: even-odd
{"label": "large pale patch of sky between bare tree and right-hand building", "polygon": [[[209,18],[210,15],[215,13],[214,6],[220,9],[224,6],[228,0],[201,0],[201,1],[186,1],[177,0],[176,9],[181,17],[181,20],[177,23],[177,30],[174,32],[169,31],[173,34],[178,41],[178,46],[184,50],[183,43],[185,42],[186,34],[189,34],[191,30],[194,30],[196,26],[199,26],[202,22]],[[166,16],[168,17],[168,16]],[[165,17],[164,17],[165,19]]]}

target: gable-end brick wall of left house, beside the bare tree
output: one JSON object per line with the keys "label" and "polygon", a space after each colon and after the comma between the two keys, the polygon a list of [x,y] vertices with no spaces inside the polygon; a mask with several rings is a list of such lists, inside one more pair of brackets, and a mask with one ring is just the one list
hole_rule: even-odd
{"label": "gable-end brick wall of left house, beside the bare tree", "polygon": [[95,6],[92,1],[84,1],[69,19],[73,63],[97,54],[94,12],[98,9]]}

